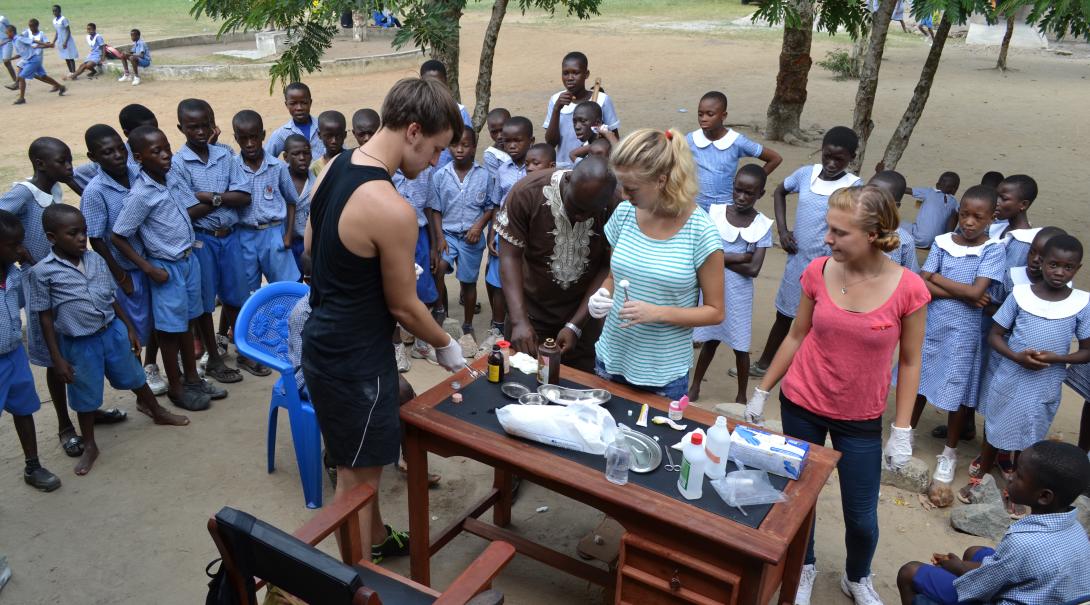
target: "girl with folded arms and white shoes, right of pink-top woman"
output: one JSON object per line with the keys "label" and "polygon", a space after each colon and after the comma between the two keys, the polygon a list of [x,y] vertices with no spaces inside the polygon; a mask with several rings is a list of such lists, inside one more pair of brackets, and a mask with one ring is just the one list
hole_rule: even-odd
{"label": "girl with folded arms and white shoes, right of pink-top woman", "polygon": [[958,208],[960,232],[935,238],[920,277],[931,292],[923,339],[920,391],[912,411],[912,427],[930,401],[949,412],[946,448],[938,456],[934,479],[954,481],[957,441],[969,408],[977,404],[980,385],[982,307],[986,291],[1006,271],[1003,244],[988,238],[995,213],[995,191],[970,187]]}

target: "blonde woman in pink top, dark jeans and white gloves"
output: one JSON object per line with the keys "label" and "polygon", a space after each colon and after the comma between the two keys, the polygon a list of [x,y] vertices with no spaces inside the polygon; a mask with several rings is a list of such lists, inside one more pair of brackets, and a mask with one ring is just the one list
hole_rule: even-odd
{"label": "blonde woman in pink top, dark jeans and white gloves", "polygon": [[[931,295],[919,276],[884,254],[900,245],[897,207],[888,193],[875,186],[838,190],[826,221],[825,244],[833,255],[815,258],[803,271],[798,316],[746,406],[746,419],[764,421],[765,399],[783,378],[784,433],[813,444],[832,436],[840,452],[846,525],[840,590],[859,605],[881,605],[871,582],[879,481],[883,463],[899,467],[912,455],[909,421]],[[883,453],[882,414],[898,346],[896,411]],[[796,604],[810,603],[815,577],[811,532]]]}

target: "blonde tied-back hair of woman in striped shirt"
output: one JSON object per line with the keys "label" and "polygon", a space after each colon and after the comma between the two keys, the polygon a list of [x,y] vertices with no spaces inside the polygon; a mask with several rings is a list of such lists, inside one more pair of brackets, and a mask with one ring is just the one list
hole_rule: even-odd
{"label": "blonde tied-back hair of woman in striped shirt", "polygon": [[640,129],[614,148],[609,160],[615,169],[630,171],[640,180],[656,181],[666,176],[655,210],[678,216],[695,206],[697,165],[680,132]]}

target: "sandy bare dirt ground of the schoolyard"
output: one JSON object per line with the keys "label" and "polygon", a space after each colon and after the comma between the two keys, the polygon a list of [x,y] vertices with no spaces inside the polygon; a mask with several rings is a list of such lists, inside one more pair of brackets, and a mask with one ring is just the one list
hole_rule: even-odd
{"label": "sandy bare dirt ground of the schoolyard", "polygon": [[[463,20],[462,90],[472,90],[476,72],[476,41],[486,17],[480,13]],[[548,23],[532,19],[509,19],[500,36],[494,80],[493,106],[525,113],[541,123],[548,95],[559,87],[561,56],[580,49],[591,57],[593,76],[601,76],[616,99],[622,131],[637,126],[695,128],[695,105],[708,89],[725,90],[730,97],[729,121],[747,135],[761,140],[753,124],[764,120],[773,92],[779,36],[762,31],[651,32],[640,20],[625,22],[602,19],[588,24]],[[471,44],[472,41],[472,44]],[[835,46],[848,46],[844,38],[824,35],[814,38],[815,58]],[[875,107],[877,128],[868,165],[873,166],[915,86],[927,46],[915,37],[892,36],[883,63],[882,83]],[[59,73],[56,55],[47,68]],[[898,169],[910,183],[927,186],[943,170],[962,177],[962,189],[977,182],[986,170],[1032,174],[1041,194],[1030,214],[1036,225],[1062,225],[1076,234],[1086,234],[1090,214],[1085,190],[1078,183],[1088,157],[1085,102],[1090,97],[1090,62],[1085,58],[1056,57],[1043,52],[1012,50],[1010,63],[1018,71],[1000,74],[988,70],[994,64],[994,49],[969,49],[952,43],[932,90],[931,100],[916,136]],[[339,109],[351,113],[361,107],[378,107],[384,92],[408,71],[374,73],[359,77],[315,76],[308,78],[316,99],[315,110]],[[85,154],[82,133],[96,122],[117,124],[118,109],[142,102],[159,116],[173,144],[182,143],[172,126],[179,99],[201,96],[219,113],[219,124],[229,129],[230,117],[239,109],[254,108],[271,130],[287,120],[279,98],[268,95],[267,82],[164,82],[152,80],[134,88],[116,82],[77,82],[64,98],[46,94],[33,84],[28,104],[0,108],[5,124],[0,147],[0,181],[28,173],[25,149],[39,135],[59,136],[70,145],[77,160]],[[829,128],[850,123],[855,84],[835,82],[815,68],[810,74],[809,100],[803,124]],[[470,100],[463,98],[463,100]],[[680,109],[687,112],[680,112]],[[541,133],[538,133],[541,136]],[[225,140],[230,134],[225,133]],[[772,214],[771,191],[796,167],[815,160],[818,144],[794,147],[774,145],[784,166],[770,182],[770,196],[761,208]],[[864,172],[869,174],[870,170]],[[74,202],[74,196],[69,196]],[[906,205],[906,219],[915,210]],[[759,310],[770,310],[782,275],[784,254],[770,253],[758,279]],[[1090,286],[1086,273],[1077,280]],[[453,313],[459,316],[459,311]],[[477,317],[480,331],[486,327],[487,310]],[[754,317],[754,352],[760,353],[771,312]],[[703,388],[701,406],[735,397],[735,385],[726,376],[728,355],[720,354]],[[408,378],[423,391],[440,377],[436,366],[417,361]],[[46,394],[39,378],[39,392]],[[271,379],[246,376],[233,386],[231,396],[207,412],[191,414],[185,428],[160,428],[136,413],[133,397],[107,389],[107,406],[120,406],[130,413],[124,424],[100,427],[102,449],[94,471],[86,477],[72,472],[73,460],[64,457],[56,439],[57,421],[51,404],[36,415],[40,457],[60,475],[63,487],[39,494],[22,485],[22,455],[12,425],[0,422],[0,553],[8,556],[14,578],[0,594],[2,603],[46,604],[143,604],[148,602],[192,604],[204,596],[204,566],[215,558],[215,548],[205,531],[205,521],[219,507],[234,506],[284,529],[298,527],[311,516],[303,506],[298,471],[293,461],[287,424],[278,437],[280,467],[265,472],[265,414]],[[1054,432],[1065,440],[1077,438],[1081,402],[1065,390],[1064,406]],[[778,415],[773,407],[771,416]],[[916,440],[917,455],[932,461],[940,444],[928,436],[943,416],[924,414]],[[961,448],[958,481],[979,449],[979,441]],[[462,459],[433,459],[441,473],[441,485],[432,492],[433,525],[444,525],[464,503],[473,500],[489,484],[487,470]],[[383,509],[388,522],[407,525],[404,482],[396,471],[384,477]],[[326,497],[331,497],[327,487]],[[540,506],[547,512],[537,513]],[[601,515],[588,507],[556,496],[535,485],[523,487],[514,509],[514,528],[564,552],[591,530]],[[932,552],[960,553],[984,539],[954,532],[948,510],[923,511],[916,498],[884,487],[880,506],[882,537],[874,560],[875,582],[887,603],[896,600],[895,573],[910,559],[927,560]],[[814,603],[847,603],[837,590],[844,558],[839,488],[832,481],[822,493],[818,511],[818,558],[822,577]],[[329,546],[326,546],[329,548]],[[476,553],[483,543],[461,537],[434,559],[434,578],[444,586]],[[389,562],[408,572],[408,560]],[[498,578],[509,603],[597,603],[600,591],[584,582],[546,571],[525,558],[517,558]],[[148,595],[155,594],[154,597]]]}

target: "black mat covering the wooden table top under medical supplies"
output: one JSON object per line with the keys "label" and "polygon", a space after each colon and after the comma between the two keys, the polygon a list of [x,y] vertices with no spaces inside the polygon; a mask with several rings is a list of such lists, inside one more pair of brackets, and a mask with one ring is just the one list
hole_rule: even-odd
{"label": "black mat covering the wooden table top under medical supplies", "polygon": [[[514,382],[525,385],[531,390],[537,389],[537,379],[534,376],[528,376],[522,372],[512,370],[511,373],[505,376],[505,382]],[[583,385],[572,383],[571,380],[560,379],[560,385],[572,388],[586,388]],[[460,391],[462,394],[462,402],[453,403],[450,398],[443,400],[436,409],[443,413],[449,414],[457,418],[458,420],[468,422],[474,426],[480,426],[481,428],[497,433],[499,435],[505,435],[511,439],[519,439],[523,443],[531,444],[541,449],[547,450],[549,453],[559,456],[560,458],[566,458],[578,462],[584,467],[590,467],[605,475],[606,470],[606,459],[604,456],[596,456],[593,453],[583,453],[581,451],[573,451],[570,449],[564,449],[558,447],[548,446],[545,444],[540,444],[537,441],[531,441],[529,439],[522,439],[521,437],[516,437],[508,435],[504,432],[504,427],[499,425],[499,420],[496,419],[496,409],[502,408],[509,403],[514,403],[511,399],[508,399],[499,390],[499,385],[489,383],[484,377],[477,378],[472,383],[464,385]],[[620,397],[614,396],[605,406],[605,409],[609,411],[614,420],[617,422],[652,437],[657,436],[659,443],[667,447],[678,443],[681,437],[697,427],[704,428],[707,432],[707,425],[693,422],[691,419],[683,419],[680,424],[688,425],[686,431],[675,431],[669,426],[652,424],[650,420],[656,415],[666,415],[665,412],[651,409],[649,414],[647,427],[637,426],[635,421],[640,414],[640,404],[628,399],[622,399]],[[632,415],[628,415],[628,411],[632,411]],[[681,452],[671,449],[670,456],[674,457],[674,462],[681,463]],[[663,465],[667,464],[667,459],[665,452],[663,453]],[[646,487],[647,489],[653,489],[659,494],[665,494],[678,501],[690,504],[698,508],[702,508],[710,512],[714,512],[720,517],[726,517],[731,521],[741,523],[750,528],[758,528],[768,511],[772,509],[772,505],[762,506],[748,506],[746,507],[746,513],[742,515],[737,508],[728,507],[723,498],[715,493],[715,488],[712,487],[711,483],[705,479],[703,495],[698,500],[687,500],[681,497],[681,494],[677,488],[678,473],[677,471],[669,472],[659,465],[657,469],[650,473],[632,473],[628,474],[628,482],[630,484],[640,485],[641,487]],[[735,463],[727,463],[727,472],[735,471],[738,468]],[[777,475],[768,475],[772,484],[778,488],[784,489],[787,485],[788,480],[786,477]]]}

